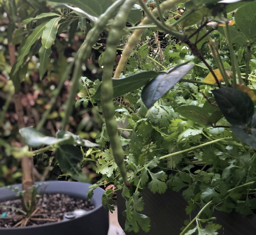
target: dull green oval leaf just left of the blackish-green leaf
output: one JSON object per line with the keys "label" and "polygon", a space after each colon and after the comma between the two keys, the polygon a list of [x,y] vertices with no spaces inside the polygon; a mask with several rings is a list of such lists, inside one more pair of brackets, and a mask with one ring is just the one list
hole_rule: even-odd
{"label": "dull green oval leaf just left of the blackish-green leaf", "polygon": [[176,111],[188,120],[208,125],[210,115],[201,107],[194,105],[184,105],[176,109]]}

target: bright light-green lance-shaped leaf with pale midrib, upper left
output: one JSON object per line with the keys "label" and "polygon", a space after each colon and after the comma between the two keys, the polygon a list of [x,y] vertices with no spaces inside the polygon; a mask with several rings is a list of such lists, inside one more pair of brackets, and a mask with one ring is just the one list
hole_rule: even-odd
{"label": "bright light-green lance-shaped leaf with pale midrib, upper left", "polygon": [[55,41],[59,21],[60,21],[60,17],[53,18],[45,26],[45,29],[42,35],[42,45],[46,49],[49,49],[52,46],[53,42]]}

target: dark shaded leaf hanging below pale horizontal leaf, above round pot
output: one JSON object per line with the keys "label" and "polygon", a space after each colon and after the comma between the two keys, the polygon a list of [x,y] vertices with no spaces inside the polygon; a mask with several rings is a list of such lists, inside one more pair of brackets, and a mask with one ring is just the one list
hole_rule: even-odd
{"label": "dark shaded leaf hanging below pale horizontal leaf, above round pot", "polygon": [[77,165],[83,159],[83,153],[79,147],[64,144],[60,145],[56,151],[56,157],[59,161],[60,168],[68,174],[78,175],[81,168],[78,168]]}

